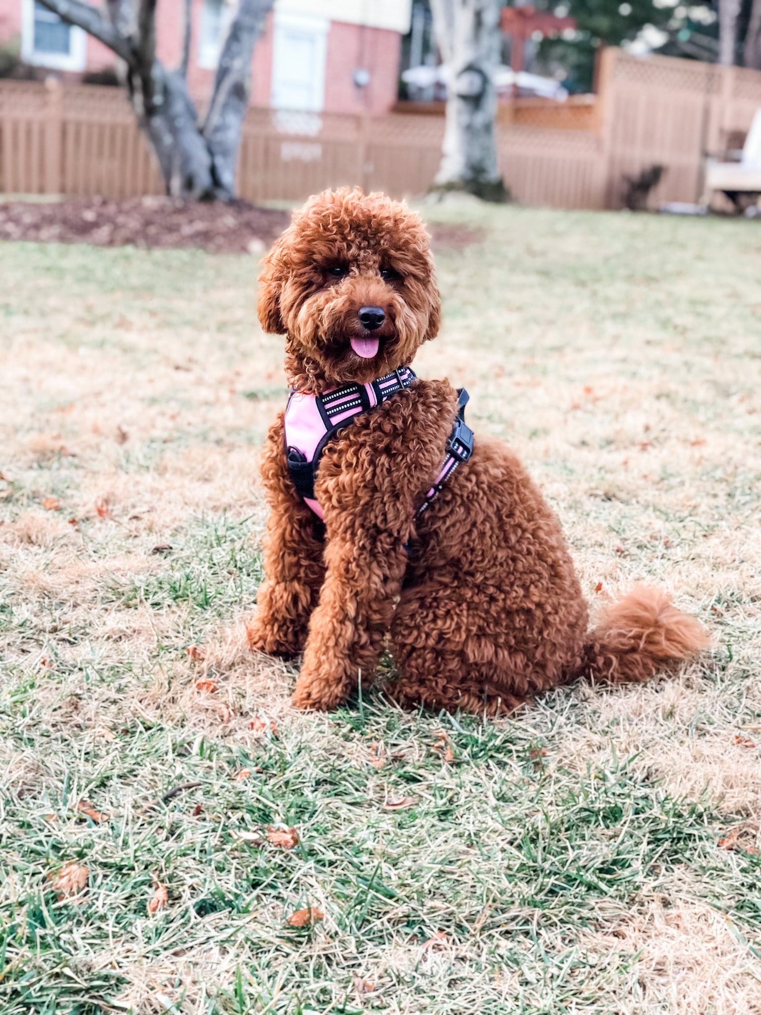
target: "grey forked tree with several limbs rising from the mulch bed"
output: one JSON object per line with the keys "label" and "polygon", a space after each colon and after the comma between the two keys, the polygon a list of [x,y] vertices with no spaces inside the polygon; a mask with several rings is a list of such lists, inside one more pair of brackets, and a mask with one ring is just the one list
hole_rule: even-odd
{"label": "grey forked tree with several limbs rising from the mulch bed", "polygon": [[185,0],[182,60],[167,70],[156,58],[156,0],[107,0],[107,16],[83,0],[41,0],[68,24],[98,39],[120,58],[121,76],[158,160],[166,193],[192,200],[234,197],[235,162],[251,90],[251,61],[274,0],[239,0],[199,123],[188,91],[191,2]]}

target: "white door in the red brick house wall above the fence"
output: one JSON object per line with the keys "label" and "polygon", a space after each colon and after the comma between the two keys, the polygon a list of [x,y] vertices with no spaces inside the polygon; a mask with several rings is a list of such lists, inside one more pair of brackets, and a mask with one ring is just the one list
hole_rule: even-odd
{"label": "white door in the red brick house wall above the fence", "polygon": [[275,13],[272,97],[276,110],[320,113],[325,105],[327,17]]}

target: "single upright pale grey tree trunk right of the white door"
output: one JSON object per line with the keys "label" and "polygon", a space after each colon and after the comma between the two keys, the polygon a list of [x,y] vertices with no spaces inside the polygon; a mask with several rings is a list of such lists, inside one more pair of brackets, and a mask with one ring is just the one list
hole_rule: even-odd
{"label": "single upright pale grey tree trunk right of the white door", "polygon": [[446,67],[446,124],[433,193],[465,191],[486,201],[504,201],[507,192],[494,141],[498,0],[431,0],[431,10]]}

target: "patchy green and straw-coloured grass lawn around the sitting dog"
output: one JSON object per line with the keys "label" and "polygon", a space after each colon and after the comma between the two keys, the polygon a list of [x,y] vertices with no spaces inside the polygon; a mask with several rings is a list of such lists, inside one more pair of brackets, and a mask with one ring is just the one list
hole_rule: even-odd
{"label": "patchy green and straw-coloured grass lawn around the sitting dog", "polygon": [[714,651],[509,720],[293,713],[244,629],[254,259],[0,245],[2,1015],[761,1012],[761,231],[426,214],[483,233],[416,369],[591,600],[665,585]]}

